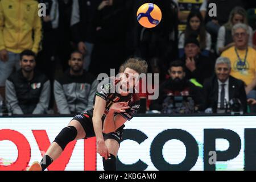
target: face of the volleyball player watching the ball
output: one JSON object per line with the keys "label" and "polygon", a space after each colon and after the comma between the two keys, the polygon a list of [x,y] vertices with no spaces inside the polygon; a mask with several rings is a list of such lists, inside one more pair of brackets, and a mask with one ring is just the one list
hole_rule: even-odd
{"label": "face of the volleyball player watching the ball", "polygon": [[125,71],[123,71],[121,80],[120,80],[120,88],[124,92],[129,92],[129,89],[133,89],[134,86],[138,83],[138,73],[134,71],[133,69],[126,68]]}

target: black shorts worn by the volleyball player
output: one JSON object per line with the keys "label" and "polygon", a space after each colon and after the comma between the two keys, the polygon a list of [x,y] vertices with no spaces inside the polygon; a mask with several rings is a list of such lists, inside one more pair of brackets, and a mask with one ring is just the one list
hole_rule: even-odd
{"label": "black shorts worn by the volleyball player", "polygon": [[[92,118],[88,114],[83,112],[82,114],[76,115],[73,119],[75,119],[76,121],[79,121],[81,123],[81,125],[85,131],[85,134],[86,134],[85,139],[90,138],[90,137],[95,137]],[[125,125],[119,127],[119,129],[117,129],[116,131],[114,131],[112,133],[109,133],[109,134],[103,133],[104,139],[105,140],[106,139],[114,139],[120,144],[122,141],[123,127],[125,127]]]}

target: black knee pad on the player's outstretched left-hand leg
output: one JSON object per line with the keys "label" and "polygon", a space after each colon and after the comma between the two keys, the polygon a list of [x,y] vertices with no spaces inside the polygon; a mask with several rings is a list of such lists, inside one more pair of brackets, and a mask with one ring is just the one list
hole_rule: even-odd
{"label": "black knee pad on the player's outstretched left-hand leg", "polygon": [[77,130],[74,126],[64,127],[64,129],[60,131],[59,135],[57,135],[54,142],[59,144],[59,146],[64,151],[67,144],[73,141],[76,138],[76,136],[77,136]]}

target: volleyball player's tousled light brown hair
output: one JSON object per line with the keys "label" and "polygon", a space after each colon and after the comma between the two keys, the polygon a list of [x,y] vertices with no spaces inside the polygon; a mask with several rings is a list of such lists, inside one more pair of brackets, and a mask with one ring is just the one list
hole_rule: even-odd
{"label": "volleyball player's tousled light brown hair", "polygon": [[125,71],[126,68],[133,69],[139,75],[141,73],[147,73],[147,62],[139,58],[129,58],[122,65],[122,70]]}

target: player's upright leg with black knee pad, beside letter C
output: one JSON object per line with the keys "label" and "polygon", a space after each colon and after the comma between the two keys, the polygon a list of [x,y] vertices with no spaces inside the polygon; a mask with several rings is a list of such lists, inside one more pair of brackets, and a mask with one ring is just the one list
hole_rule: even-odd
{"label": "player's upright leg with black knee pad, beside letter C", "polygon": [[108,159],[103,159],[103,167],[105,171],[115,171],[116,168],[116,159],[117,159],[117,152],[119,150],[119,143],[115,139],[106,139],[105,140],[106,146],[108,147],[110,156]]}

